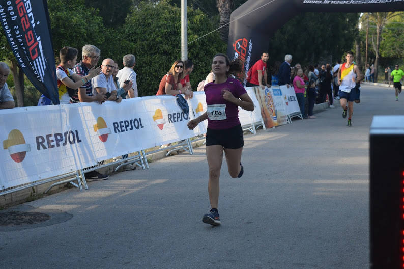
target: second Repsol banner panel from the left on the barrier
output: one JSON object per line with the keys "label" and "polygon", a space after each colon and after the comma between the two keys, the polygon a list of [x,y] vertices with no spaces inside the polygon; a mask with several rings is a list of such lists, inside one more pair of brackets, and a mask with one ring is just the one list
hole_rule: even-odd
{"label": "second Repsol banner panel from the left on the barrier", "polygon": [[[73,105],[80,109],[88,146],[93,148],[97,162],[139,151],[143,146],[155,146],[153,129],[141,98],[125,99],[121,103]],[[72,104],[64,106],[71,107]]]}

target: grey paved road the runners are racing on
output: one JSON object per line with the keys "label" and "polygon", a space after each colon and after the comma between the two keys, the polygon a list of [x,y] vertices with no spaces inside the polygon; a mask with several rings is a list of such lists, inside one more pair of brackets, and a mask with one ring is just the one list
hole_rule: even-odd
{"label": "grey paved road the runners are racing on", "polygon": [[1,267],[368,268],[369,126],[373,115],[404,114],[401,96],[362,86],[350,128],[337,107],[245,136],[244,176],[230,178],[223,162],[220,227],[201,222],[200,147],[26,203],[72,217],[0,232]]}

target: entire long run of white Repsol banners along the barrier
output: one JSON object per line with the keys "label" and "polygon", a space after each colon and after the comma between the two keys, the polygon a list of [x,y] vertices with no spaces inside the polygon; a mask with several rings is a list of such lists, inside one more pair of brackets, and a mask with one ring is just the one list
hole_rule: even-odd
{"label": "entire long run of white Repsol banners along the barrier", "polygon": [[[247,91],[254,104],[258,103],[253,92]],[[205,93],[195,92],[188,104],[189,113],[184,113],[176,97],[167,95],[131,98],[121,103],[106,101],[0,110],[3,145],[0,189],[205,133],[207,121],[193,130],[187,126],[195,115],[205,113]],[[256,115],[241,111],[241,124],[259,121]]]}

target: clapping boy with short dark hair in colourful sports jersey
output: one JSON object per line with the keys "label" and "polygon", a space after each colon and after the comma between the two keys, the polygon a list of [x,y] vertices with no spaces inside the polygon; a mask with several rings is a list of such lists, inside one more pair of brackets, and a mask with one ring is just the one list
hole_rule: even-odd
{"label": "clapping boy with short dark hair in colourful sports jersey", "polygon": [[[79,76],[75,74],[71,68],[76,65],[77,49],[72,47],[63,47],[59,51],[60,65],[56,67],[57,88],[59,88],[59,100],[61,104],[70,103],[70,95],[74,95],[75,91],[69,93],[71,90],[77,90],[83,86],[93,77],[100,74],[100,68],[91,68],[89,74],[86,76]],[[70,90],[70,91],[71,91]]]}

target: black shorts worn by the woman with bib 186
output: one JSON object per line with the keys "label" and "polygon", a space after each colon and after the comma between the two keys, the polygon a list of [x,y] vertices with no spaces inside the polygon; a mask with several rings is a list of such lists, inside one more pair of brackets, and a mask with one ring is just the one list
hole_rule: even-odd
{"label": "black shorts worn by the woman with bib 186", "polygon": [[223,148],[238,149],[244,146],[241,125],[223,130],[208,128],[206,130],[206,146],[221,145]]}

